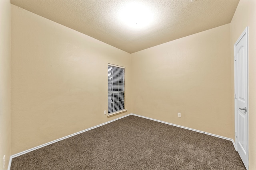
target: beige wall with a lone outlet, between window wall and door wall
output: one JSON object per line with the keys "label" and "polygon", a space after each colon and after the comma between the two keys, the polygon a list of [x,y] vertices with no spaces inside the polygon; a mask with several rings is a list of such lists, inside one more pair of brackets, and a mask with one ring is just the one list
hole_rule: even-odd
{"label": "beige wall with a lone outlet, between window wall and door wall", "polygon": [[133,53],[132,75],[133,113],[233,137],[230,24]]}

